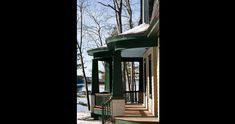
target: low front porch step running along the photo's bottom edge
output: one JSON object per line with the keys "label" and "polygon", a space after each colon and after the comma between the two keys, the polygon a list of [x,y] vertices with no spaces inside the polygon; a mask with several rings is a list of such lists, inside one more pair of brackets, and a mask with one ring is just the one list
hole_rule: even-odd
{"label": "low front porch step running along the photo's bottom edge", "polygon": [[159,124],[157,117],[115,117],[115,124]]}

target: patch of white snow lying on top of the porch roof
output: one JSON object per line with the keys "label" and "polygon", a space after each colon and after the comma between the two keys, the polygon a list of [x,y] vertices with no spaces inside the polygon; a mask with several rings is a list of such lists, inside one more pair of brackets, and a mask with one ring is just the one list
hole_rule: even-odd
{"label": "patch of white snow lying on top of the porch roof", "polygon": [[128,31],[125,31],[123,33],[121,33],[120,35],[123,35],[123,34],[136,34],[136,33],[141,33],[141,32],[144,32],[148,29],[149,27],[149,24],[146,24],[146,23],[143,23],[137,27],[134,27]]}

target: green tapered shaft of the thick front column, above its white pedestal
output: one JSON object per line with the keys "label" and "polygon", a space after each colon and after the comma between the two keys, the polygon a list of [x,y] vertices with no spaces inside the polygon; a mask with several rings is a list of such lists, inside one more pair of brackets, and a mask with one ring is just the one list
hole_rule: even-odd
{"label": "green tapered shaft of the thick front column, above its white pedestal", "polygon": [[113,55],[113,74],[112,74],[112,96],[123,97],[123,84],[121,72],[121,51],[115,51]]}

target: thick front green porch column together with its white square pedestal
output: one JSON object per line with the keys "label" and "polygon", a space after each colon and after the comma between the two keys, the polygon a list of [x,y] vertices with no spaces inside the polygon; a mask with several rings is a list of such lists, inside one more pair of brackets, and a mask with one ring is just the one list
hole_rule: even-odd
{"label": "thick front green porch column together with its white square pedestal", "polygon": [[112,117],[125,114],[125,100],[123,98],[123,83],[121,71],[121,51],[113,53],[112,70]]}

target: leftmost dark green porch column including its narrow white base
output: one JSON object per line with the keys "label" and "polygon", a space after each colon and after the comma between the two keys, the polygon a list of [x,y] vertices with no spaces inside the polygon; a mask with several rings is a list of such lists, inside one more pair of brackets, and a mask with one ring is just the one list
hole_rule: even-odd
{"label": "leftmost dark green porch column including its narrow white base", "polygon": [[94,107],[95,107],[95,93],[99,93],[99,75],[98,75],[98,60],[92,60],[92,85],[91,85],[91,117],[95,117],[94,115]]}

